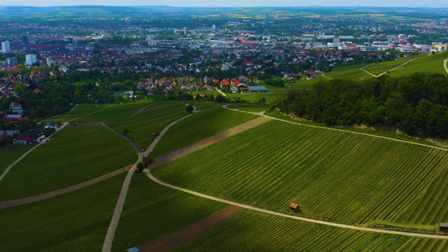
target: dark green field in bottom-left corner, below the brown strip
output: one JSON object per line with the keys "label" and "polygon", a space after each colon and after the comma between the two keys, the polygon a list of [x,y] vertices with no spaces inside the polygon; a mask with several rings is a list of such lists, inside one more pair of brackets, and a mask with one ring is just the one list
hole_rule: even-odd
{"label": "dark green field in bottom-left corner, below the brown strip", "polygon": [[101,251],[123,179],[0,210],[0,251]]}

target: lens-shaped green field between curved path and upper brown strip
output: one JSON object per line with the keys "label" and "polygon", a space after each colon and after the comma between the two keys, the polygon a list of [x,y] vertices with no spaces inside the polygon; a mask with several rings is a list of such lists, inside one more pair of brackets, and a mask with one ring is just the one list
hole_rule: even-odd
{"label": "lens-shaped green field between curved path and upper brown strip", "polygon": [[248,113],[223,109],[221,106],[201,111],[171,127],[158,145],[155,146],[151,157],[158,157],[190,144],[195,144],[197,141],[257,117]]}

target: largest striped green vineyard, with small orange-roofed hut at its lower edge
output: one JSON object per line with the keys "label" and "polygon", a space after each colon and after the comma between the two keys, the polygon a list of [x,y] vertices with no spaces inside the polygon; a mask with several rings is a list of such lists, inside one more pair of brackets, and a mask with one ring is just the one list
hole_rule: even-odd
{"label": "largest striped green vineyard, with small orange-roofed hut at its lower edge", "polygon": [[[435,228],[448,218],[447,151],[269,122],[154,170],[176,186],[325,221]],[[437,203],[435,203],[437,202]],[[418,207],[417,207],[418,206]]]}

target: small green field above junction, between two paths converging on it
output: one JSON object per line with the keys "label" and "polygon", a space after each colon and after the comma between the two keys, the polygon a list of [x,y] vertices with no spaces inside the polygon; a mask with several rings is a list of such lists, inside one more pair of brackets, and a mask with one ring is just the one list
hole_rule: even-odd
{"label": "small green field above junction, between two paths converging on it", "polygon": [[152,132],[160,133],[167,125],[187,115],[184,104],[151,106],[148,108],[148,111],[132,116],[130,120],[124,120],[120,123],[109,123],[109,126],[120,133],[129,130],[130,132],[127,136],[137,146],[148,147],[155,139],[155,137],[151,137]]}

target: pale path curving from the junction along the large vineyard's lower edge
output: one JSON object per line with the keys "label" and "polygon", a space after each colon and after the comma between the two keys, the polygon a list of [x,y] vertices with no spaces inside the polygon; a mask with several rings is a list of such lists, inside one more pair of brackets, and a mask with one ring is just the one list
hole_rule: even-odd
{"label": "pale path curving from the junction along the large vineyard's lower edge", "polygon": [[204,195],[202,193],[197,193],[195,191],[192,190],[188,190],[188,189],[184,189],[184,188],[179,188],[177,186],[173,186],[170,185],[168,183],[162,182],[158,179],[155,178],[155,176],[153,176],[153,174],[151,174],[151,172],[148,169],[144,170],[144,173],[146,174],[146,176],[149,177],[149,179],[151,179],[152,181],[154,181],[155,183],[158,183],[162,186],[167,186],[169,188],[175,189],[175,190],[180,190],[184,193],[190,193],[192,195],[196,195],[199,197],[204,197],[206,199],[209,200],[215,200],[218,202],[223,202],[225,204],[231,204],[237,207],[242,207],[244,209],[249,209],[249,210],[253,210],[253,211],[259,211],[265,214],[272,214],[275,216],[281,216],[281,217],[285,217],[285,218],[293,218],[295,220],[299,220],[299,221],[306,221],[309,223],[316,223],[316,224],[321,224],[321,225],[329,225],[332,227],[336,227],[336,228],[346,228],[346,229],[350,229],[350,230],[359,230],[359,231],[366,231],[366,232],[377,232],[377,233],[383,233],[383,234],[389,234],[389,235],[405,235],[408,237],[423,237],[423,238],[432,238],[432,239],[448,239],[448,236],[446,235],[425,235],[425,234],[418,234],[418,233],[411,233],[411,232],[398,232],[398,231],[392,231],[392,230],[380,230],[380,229],[376,229],[376,228],[364,228],[364,227],[358,227],[358,226],[353,226],[353,225],[346,225],[346,224],[340,224],[340,223],[331,223],[328,221],[318,221],[318,220],[314,220],[311,218],[303,218],[303,217],[299,217],[299,216],[293,216],[293,215],[289,215],[289,214],[281,214],[278,212],[274,212],[274,211],[269,211],[266,209],[259,209],[257,207],[253,207],[253,206],[249,206],[246,204],[239,204],[237,202],[232,202],[230,200],[223,200],[220,199],[218,197],[213,197],[210,195]]}

